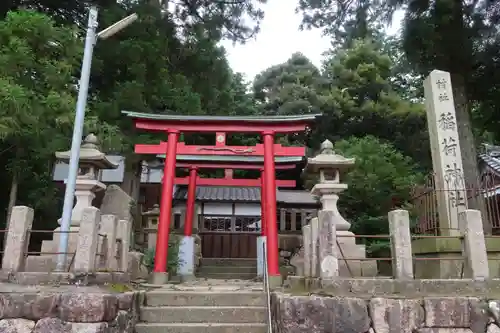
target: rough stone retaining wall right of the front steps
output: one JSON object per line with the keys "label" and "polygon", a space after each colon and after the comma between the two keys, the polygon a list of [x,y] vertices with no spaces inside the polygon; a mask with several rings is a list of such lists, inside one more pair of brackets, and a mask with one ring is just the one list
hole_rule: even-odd
{"label": "rough stone retaining wall right of the front steps", "polygon": [[271,298],[276,333],[498,333],[499,305],[495,300],[459,296],[403,299],[274,293]]}

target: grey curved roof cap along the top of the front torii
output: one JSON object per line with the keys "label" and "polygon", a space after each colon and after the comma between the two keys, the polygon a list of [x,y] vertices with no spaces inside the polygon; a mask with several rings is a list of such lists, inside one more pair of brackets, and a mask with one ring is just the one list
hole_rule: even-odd
{"label": "grey curved roof cap along the top of the front torii", "polygon": [[189,116],[189,115],[175,115],[175,114],[155,114],[155,113],[142,113],[134,111],[123,110],[122,114],[127,117],[135,119],[147,120],[164,120],[164,121],[203,121],[203,122],[231,122],[241,121],[249,123],[283,123],[283,122],[313,122],[322,114],[306,114],[306,115],[292,115],[292,116]]}

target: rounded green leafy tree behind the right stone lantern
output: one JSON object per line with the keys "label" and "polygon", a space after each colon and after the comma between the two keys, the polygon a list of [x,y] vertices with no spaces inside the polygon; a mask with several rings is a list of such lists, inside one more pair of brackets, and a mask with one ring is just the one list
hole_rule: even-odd
{"label": "rounded green leafy tree behind the right stone lantern", "polygon": [[422,181],[415,163],[373,136],[340,140],[335,151],[356,159],[343,181],[349,188],[339,201],[343,216],[352,221],[351,230],[360,235],[388,234],[387,212],[408,203],[412,187]]}

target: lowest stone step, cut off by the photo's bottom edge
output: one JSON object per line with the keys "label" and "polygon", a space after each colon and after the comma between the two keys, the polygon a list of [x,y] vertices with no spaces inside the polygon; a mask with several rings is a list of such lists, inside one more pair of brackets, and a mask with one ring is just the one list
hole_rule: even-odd
{"label": "lowest stone step, cut off by the photo's bottom edge", "polygon": [[266,333],[262,323],[199,323],[165,324],[138,323],[136,333]]}

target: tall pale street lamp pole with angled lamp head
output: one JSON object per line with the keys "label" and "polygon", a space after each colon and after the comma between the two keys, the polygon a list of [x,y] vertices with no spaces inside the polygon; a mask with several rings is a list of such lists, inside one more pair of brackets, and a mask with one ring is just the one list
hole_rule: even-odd
{"label": "tall pale street lamp pole with angled lamp head", "polygon": [[63,214],[61,219],[61,235],[58,248],[57,266],[58,271],[64,270],[66,266],[66,252],[68,250],[69,228],[71,225],[71,213],[75,195],[76,177],[78,176],[78,160],[80,159],[80,145],[82,144],[83,123],[85,119],[85,107],[89,92],[90,66],[92,64],[92,53],[98,39],[106,39],[124,29],[137,20],[137,14],[132,14],[112,24],[108,28],[96,33],[97,30],[97,7],[90,7],[87,24],[87,35],[85,36],[85,49],[83,52],[82,71],[80,74],[80,87],[78,89],[78,100],[76,102],[75,124],[73,126],[73,138],[71,139],[71,156],[69,161],[68,179],[64,193]]}

